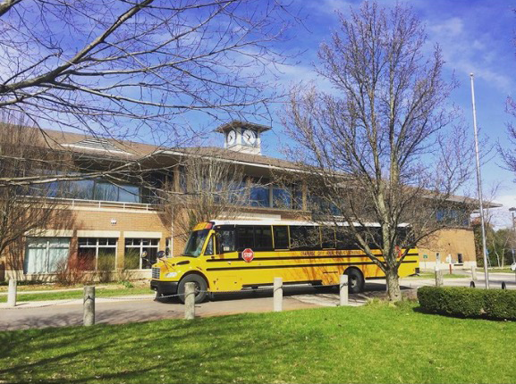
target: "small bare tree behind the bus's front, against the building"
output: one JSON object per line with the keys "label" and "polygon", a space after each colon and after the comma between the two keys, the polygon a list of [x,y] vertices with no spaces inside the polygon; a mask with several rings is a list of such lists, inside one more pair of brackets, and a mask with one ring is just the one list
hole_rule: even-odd
{"label": "small bare tree behind the bus's front, against the building", "polygon": [[249,200],[241,166],[213,156],[184,156],[162,191],[164,222],[173,238],[186,241],[193,226],[202,221],[234,219]]}

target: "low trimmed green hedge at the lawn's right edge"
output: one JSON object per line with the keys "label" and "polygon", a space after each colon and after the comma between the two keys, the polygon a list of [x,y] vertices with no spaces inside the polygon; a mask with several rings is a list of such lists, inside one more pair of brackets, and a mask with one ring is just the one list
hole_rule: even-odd
{"label": "low trimmed green hedge at the lawn's right edge", "polygon": [[516,291],[463,287],[421,287],[419,305],[453,316],[516,320]]}

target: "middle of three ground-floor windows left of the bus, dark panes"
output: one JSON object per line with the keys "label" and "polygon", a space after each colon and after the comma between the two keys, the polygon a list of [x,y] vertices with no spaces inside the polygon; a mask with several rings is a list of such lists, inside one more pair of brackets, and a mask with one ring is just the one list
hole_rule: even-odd
{"label": "middle of three ground-floor windows left of the bus, dark panes", "polygon": [[84,271],[113,271],[117,238],[79,238],[78,261]]}

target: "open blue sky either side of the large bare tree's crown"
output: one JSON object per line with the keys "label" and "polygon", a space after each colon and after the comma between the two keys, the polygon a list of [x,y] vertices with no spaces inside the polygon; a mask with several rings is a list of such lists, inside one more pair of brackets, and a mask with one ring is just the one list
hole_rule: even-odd
{"label": "open blue sky either side of the large bare tree's crown", "polygon": [[[394,2],[380,1],[379,4]],[[469,73],[474,72],[478,127],[490,144],[500,142],[505,146],[505,124],[512,119],[505,113],[505,101],[508,96],[516,96],[516,13],[513,12],[516,1],[415,0],[406,4],[410,4],[426,26],[429,47],[435,43],[441,46],[446,62],[444,76],[451,78],[454,74],[460,82],[450,102],[461,108],[464,121],[471,128],[471,135],[473,119]],[[298,56],[299,63],[295,66],[282,68],[283,85],[316,79],[313,63],[317,63],[318,46],[338,28],[335,11],[348,13],[350,5],[357,7],[360,1],[298,1],[294,5],[300,6],[305,17],[304,27],[296,26],[291,31],[292,39],[285,45],[290,52],[300,49],[304,53]],[[219,140],[219,145],[222,145],[222,138]],[[277,117],[273,121],[273,130],[267,132],[262,140],[265,144],[264,154],[284,157],[281,147],[286,138]],[[503,170],[503,162],[496,151],[491,157],[482,166],[484,196],[495,198],[496,202],[504,205],[493,213],[495,225],[509,226],[508,208],[516,206],[516,177],[512,172]],[[494,191],[495,186],[498,188]]]}

